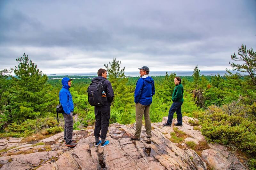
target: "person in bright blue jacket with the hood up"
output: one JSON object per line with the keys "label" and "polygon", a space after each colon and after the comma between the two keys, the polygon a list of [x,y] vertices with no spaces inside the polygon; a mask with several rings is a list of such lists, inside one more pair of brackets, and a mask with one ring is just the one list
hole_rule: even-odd
{"label": "person in bright blue jacket with the hood up", "polygon": [[60,89],[60,104],[64,110],[62,113],[65,121],[64,125],[64,141],[65,145],[69,147],[76,146],[76,143],[72,141],[72,133],[73,133],[73,111],[74,111],[74,104],[72,96],[69,92],[69,88],[71,87],[71,80],[68,77],[64,77],[61,80],[62,89]]}

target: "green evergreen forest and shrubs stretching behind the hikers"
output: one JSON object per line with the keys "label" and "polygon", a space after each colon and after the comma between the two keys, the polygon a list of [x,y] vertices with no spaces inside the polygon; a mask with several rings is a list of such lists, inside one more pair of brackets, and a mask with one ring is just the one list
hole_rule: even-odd
{"label": "green evergreen forest and shrubs stretching behind the hikers", "polygon": [[[16,58],[17,65],[0,71],[0,137],[50,136],[63,131],[64,119],[59,104],[61,78],[47,76],[37,68],[28,55]],[[125,77],[125,67],[113,58],[102,65],[114,90],[110,123],[135,122],[134,89],[138,77]],[[184,86],[182,116],[195,117],[190,122],[200,129],[208,142],[236,146],[256,168],[256,53],[245,45],[231,55],[230,66],[236,74],[226,70],[224,76],[204,76],[196,65],[192,76],[181,77]],[[96,71],[96,70],[95,70]],[[12,76],[14,73],[15,76]],[[150,75],[150,73],[149,73]],[[96,76],[96,75],[95,75]],[[150,106],[151,122],[161,122],[168,116],[176,73],[152,77],[156,94]],[[87,88],[94,76],[73,78],[69,89],[75,106],[74,129],[94,125],[94,107],[88,103]],[[176,114],[174,114],[174,117]]]}

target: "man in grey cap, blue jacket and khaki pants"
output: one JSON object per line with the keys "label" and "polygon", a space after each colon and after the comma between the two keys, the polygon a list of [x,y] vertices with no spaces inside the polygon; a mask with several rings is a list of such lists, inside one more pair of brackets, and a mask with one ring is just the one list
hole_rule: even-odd
{"label": "man in grey cap, blue jacket and khaki pants", "polygon": [[147,137],[151,137],[151,121],[149,117],[149,107],[152,103],[152,96],[155,94],[155,83],[148,75],[149,68],[143,66],[140,69],[140,78],[136,83],[134,102],[136,109],[136,131],[131,137],[132,140],[140,140],[142,126],[142,116],[144,114]]}

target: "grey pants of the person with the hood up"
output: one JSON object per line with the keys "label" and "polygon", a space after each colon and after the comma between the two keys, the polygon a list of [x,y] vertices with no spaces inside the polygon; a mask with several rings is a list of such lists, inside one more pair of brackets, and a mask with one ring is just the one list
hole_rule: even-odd
{"label": "grey pants of the person with the hood up", "polygon": [[69,115],[66,113],[62,113],[65,121],[64,125],[64,140],[67,144],[72,142],[72,134],[73,134],[73,112],[70,112]]}

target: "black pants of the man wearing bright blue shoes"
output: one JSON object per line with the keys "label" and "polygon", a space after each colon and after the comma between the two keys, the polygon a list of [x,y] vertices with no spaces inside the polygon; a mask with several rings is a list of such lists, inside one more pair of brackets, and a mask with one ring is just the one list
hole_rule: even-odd
{"label": "black pants of the man wearing bright blue shoes", "polygon": [[[100,138],[107,138],[108,133],[108,125],[110,119],[110,106],[95,106],[94,107],[95,114],[95,128],[94,128],[94,136]],[[100,134],[101,130],[101,134]]]}

